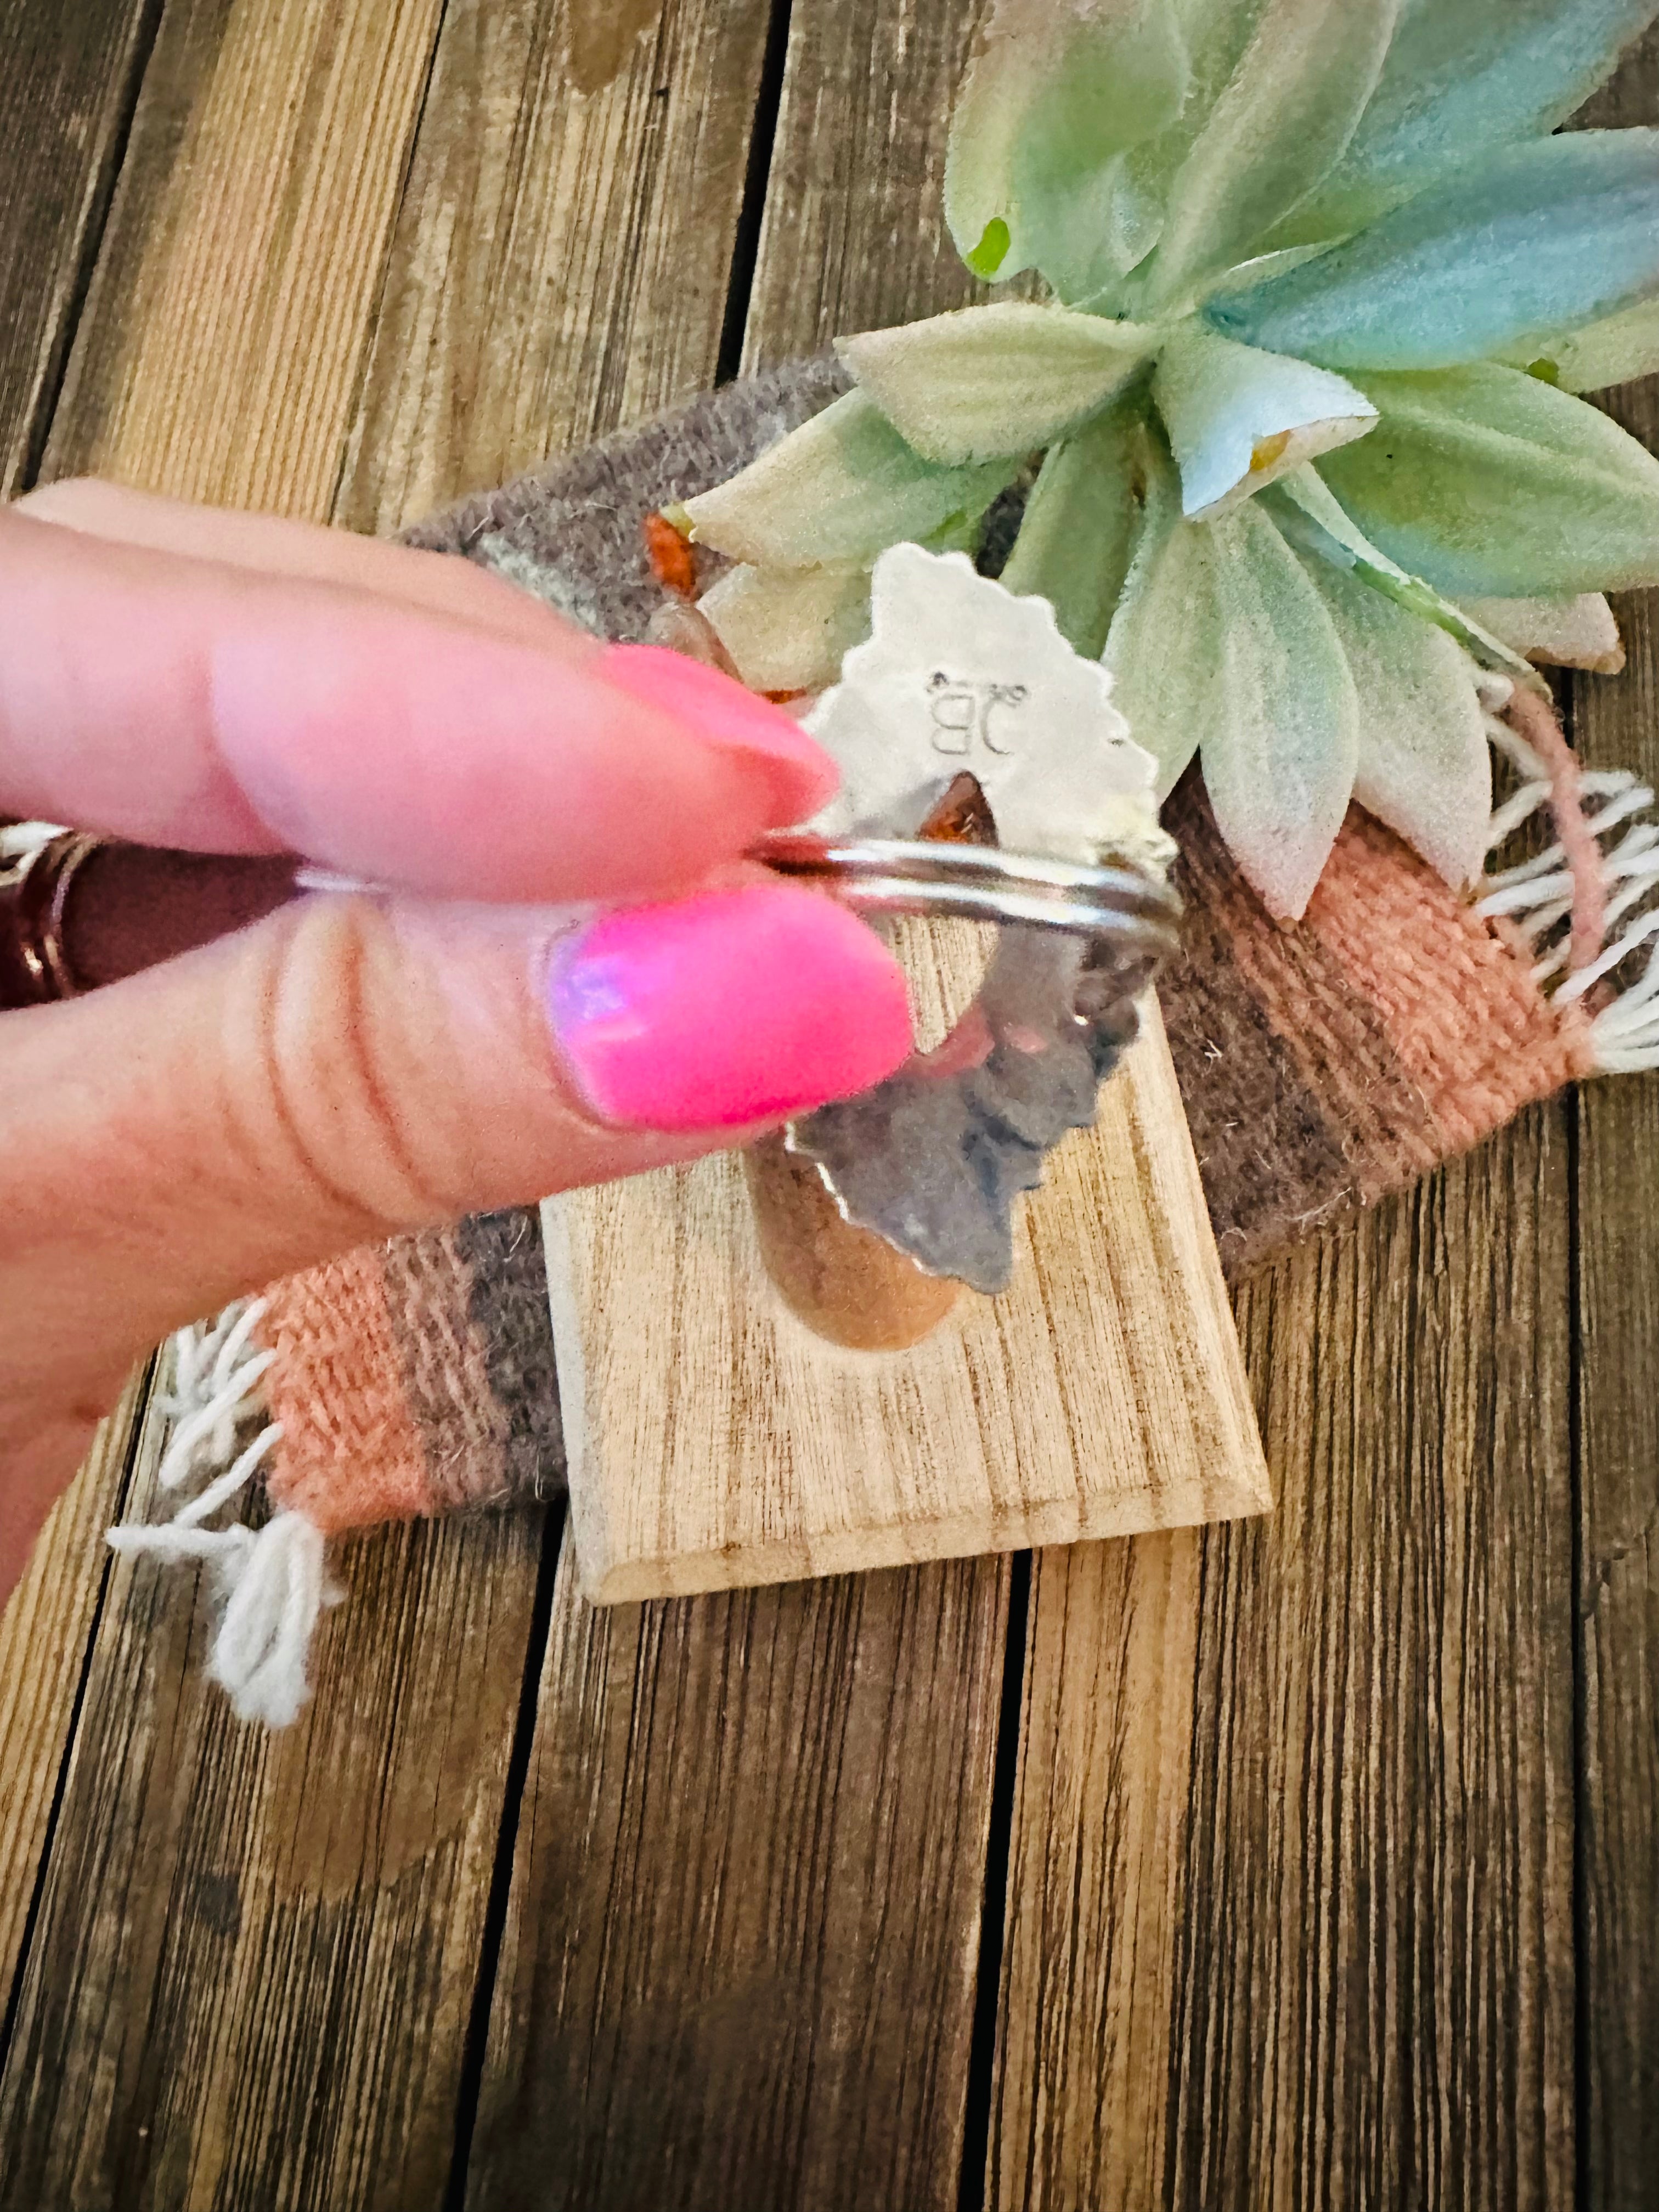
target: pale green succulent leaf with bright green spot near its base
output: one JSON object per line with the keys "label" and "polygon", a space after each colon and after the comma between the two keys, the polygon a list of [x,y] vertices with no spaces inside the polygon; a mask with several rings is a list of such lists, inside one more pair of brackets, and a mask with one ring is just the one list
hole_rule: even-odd
{"label": "pale green succulent leaf with bright green spot near its base", "polygon": [[1062,299],[1117,268],[1117,159],[1188,91],[1175,0],[998,0],[951,117],[945,217],[980,276],[1040,268]]}

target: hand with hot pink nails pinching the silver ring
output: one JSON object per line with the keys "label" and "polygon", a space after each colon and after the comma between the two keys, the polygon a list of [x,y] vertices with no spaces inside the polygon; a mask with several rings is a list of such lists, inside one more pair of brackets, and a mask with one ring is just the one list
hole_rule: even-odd
{"label": "hand with hot pink nails pinching the silver ring", "polygon": [[[695,661],[93,482],[0,509],[0,814],[131,841],[75,885],[102,987],[0,1013],[0,1595],[168,1329],[909,1051],[880,942],[741,863],[834,770]],[[294,898],[292,856],[394,889]]]}

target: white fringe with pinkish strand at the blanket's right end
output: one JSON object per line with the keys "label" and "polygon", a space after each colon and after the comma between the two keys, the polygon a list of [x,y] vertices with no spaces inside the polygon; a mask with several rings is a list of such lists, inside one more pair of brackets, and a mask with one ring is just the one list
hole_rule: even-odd
{"label": "white fringe with pinkish strand at the blanket's right end", "polygon": [[[1597,993],[1590,1015],[1595,1075],[1659,1068],[1659,823],[1644,816],[1655,792],[1628,768],[1579,768],[1564,792],[1557,768],[1498,714],[1486,734],[1520,776],[1491,818],[1486,852],[1498,854],[1540,810],[1557,836],[1528,860],[1475,885],[1475,914],[1506,920],[1533,947],[1533,980],[1559,1004]],[[1564,821],[1564,816],[1571,816]],[[1586,867],[1593,880],[1586,885]],[[1593,916],[1586,942],[1584,918]],[[1641,947],[1650,947],[1637,964]],[[1617,971],[1626,967],[1624,980]],[[1613,984],[1608,984],[1613,978]]]}

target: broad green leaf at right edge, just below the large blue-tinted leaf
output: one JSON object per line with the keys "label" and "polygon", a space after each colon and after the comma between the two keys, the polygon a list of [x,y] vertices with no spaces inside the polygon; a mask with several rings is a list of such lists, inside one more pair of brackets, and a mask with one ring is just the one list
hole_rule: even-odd
{"label": "broad green leaf at right edge, just below the large blue-tinted leaf", "polygon": [[1383,420],[1321,476],[1402,568],[1455,599],[1659,582],[1659,460],[1586,400],[1491,363],[1354,380]]}

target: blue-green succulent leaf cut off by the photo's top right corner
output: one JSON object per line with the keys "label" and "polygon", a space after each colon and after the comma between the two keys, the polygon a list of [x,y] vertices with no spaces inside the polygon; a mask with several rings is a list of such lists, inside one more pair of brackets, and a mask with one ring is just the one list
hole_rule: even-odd
{"label": "blue-green succulent leaf cut off by the photo's top right corner", "polygon": [[1657,0],[1407,0],[1347,153],[1274,243],[1345,237],[1460,164],[1555,131],[1657,13]]}

